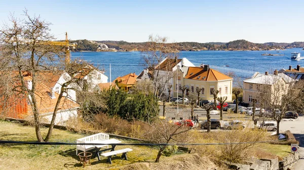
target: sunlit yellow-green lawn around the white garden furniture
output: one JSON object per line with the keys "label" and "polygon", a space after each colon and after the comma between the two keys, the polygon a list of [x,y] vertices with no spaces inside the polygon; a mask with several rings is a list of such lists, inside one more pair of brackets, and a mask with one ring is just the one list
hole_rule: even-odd
{"label": "sunlit yellow-green lawn around the white garden furniture", "polygon": [[[47,128],[42,128],[42,134],[45,136],[46,133]],[[75,142],[84,136],[88,135],[54,129],[50,142]],[[0,121],[0,140],[36,141],[35,130],[34,127]],[[127,161],[114,157],[110,165],[105,158],[101,157],[102,160],[98,161],[96,157],[91,160],[92,165],[85,168],[110,169],[134,162],[153,162],[158,151],[145,146],[117,146],[116,149],[127,147],[133,149],[128,153]],[[76,146],[70,145],[0,145],[0,169],[83,169],[79,157],[75,155],[75,148]]]}

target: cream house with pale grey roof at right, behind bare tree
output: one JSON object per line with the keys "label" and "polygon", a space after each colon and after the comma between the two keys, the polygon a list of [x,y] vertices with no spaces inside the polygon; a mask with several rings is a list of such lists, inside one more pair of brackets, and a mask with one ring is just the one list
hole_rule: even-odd
{"label": "cream house with pale grey roof at right, behind bare tree", "polygon": [[294,81],[294,79],[286,74],[278,73],[277,70],[274,71],[274,74],[256,72],[250,79],[243,81],[243,102],[252,105],[253,99],[258,100],[261,88],[274,91],[275,87],[281,86],[282,90],[278,91],[280,93],[278,96],[282,96],[285,93],[283,89],[286,89]]}

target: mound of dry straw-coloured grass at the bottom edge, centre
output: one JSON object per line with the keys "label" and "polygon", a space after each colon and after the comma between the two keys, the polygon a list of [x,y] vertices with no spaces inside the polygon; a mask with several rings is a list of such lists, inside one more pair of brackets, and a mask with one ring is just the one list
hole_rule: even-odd
{"label": "mound of dry straw-coloured grass at the bottom edge, centre", "polygon": [[199,156],[198,154],[184,154],[184,155],[174,155],[167,157],[166,160],[159,163],[145,162],[145,163],[134,163],[130,165],[123,166],[121,170],[131,170],[131,169],[206,169],[206,170],[221,170],[227,168],[220,168],[214,164],[208,157]]}

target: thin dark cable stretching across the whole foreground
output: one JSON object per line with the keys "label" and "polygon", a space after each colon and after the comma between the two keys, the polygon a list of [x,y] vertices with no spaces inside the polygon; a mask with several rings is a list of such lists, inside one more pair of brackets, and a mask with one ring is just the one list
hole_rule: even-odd
{"label": "thin dark cable stretching across the whole foreground", "polygon": [[291,139],[302,138],[303,136],[290,138],[290,139],[280,139],[280,140],[270,140],[270,141],[256,141],[256,142],[234,142],[234,143],[64,143],[64,142],[26,142],[26,141],[4,141],[0,140],[0,144],[32,144],[32,145],[121,145],[121,146],[200,146],[200,145],[235,145],[235,144],[253,144],[253,143],[269,143],[276,141],[286,141]]}

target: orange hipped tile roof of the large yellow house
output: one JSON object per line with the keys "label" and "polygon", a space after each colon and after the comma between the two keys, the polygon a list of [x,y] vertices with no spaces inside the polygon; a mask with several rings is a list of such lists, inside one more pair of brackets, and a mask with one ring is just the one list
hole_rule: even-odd
{"label": "orange hipped tile roof of the large yellow house", "polygon": [[192,80],[200,80],[200,81],[219,81],[219,80],[229,80],[233,78],[213,69],[204,71],[204,68],[202,67],[189,67],[187,75],[184,77],[184,79],[192,79]]}

